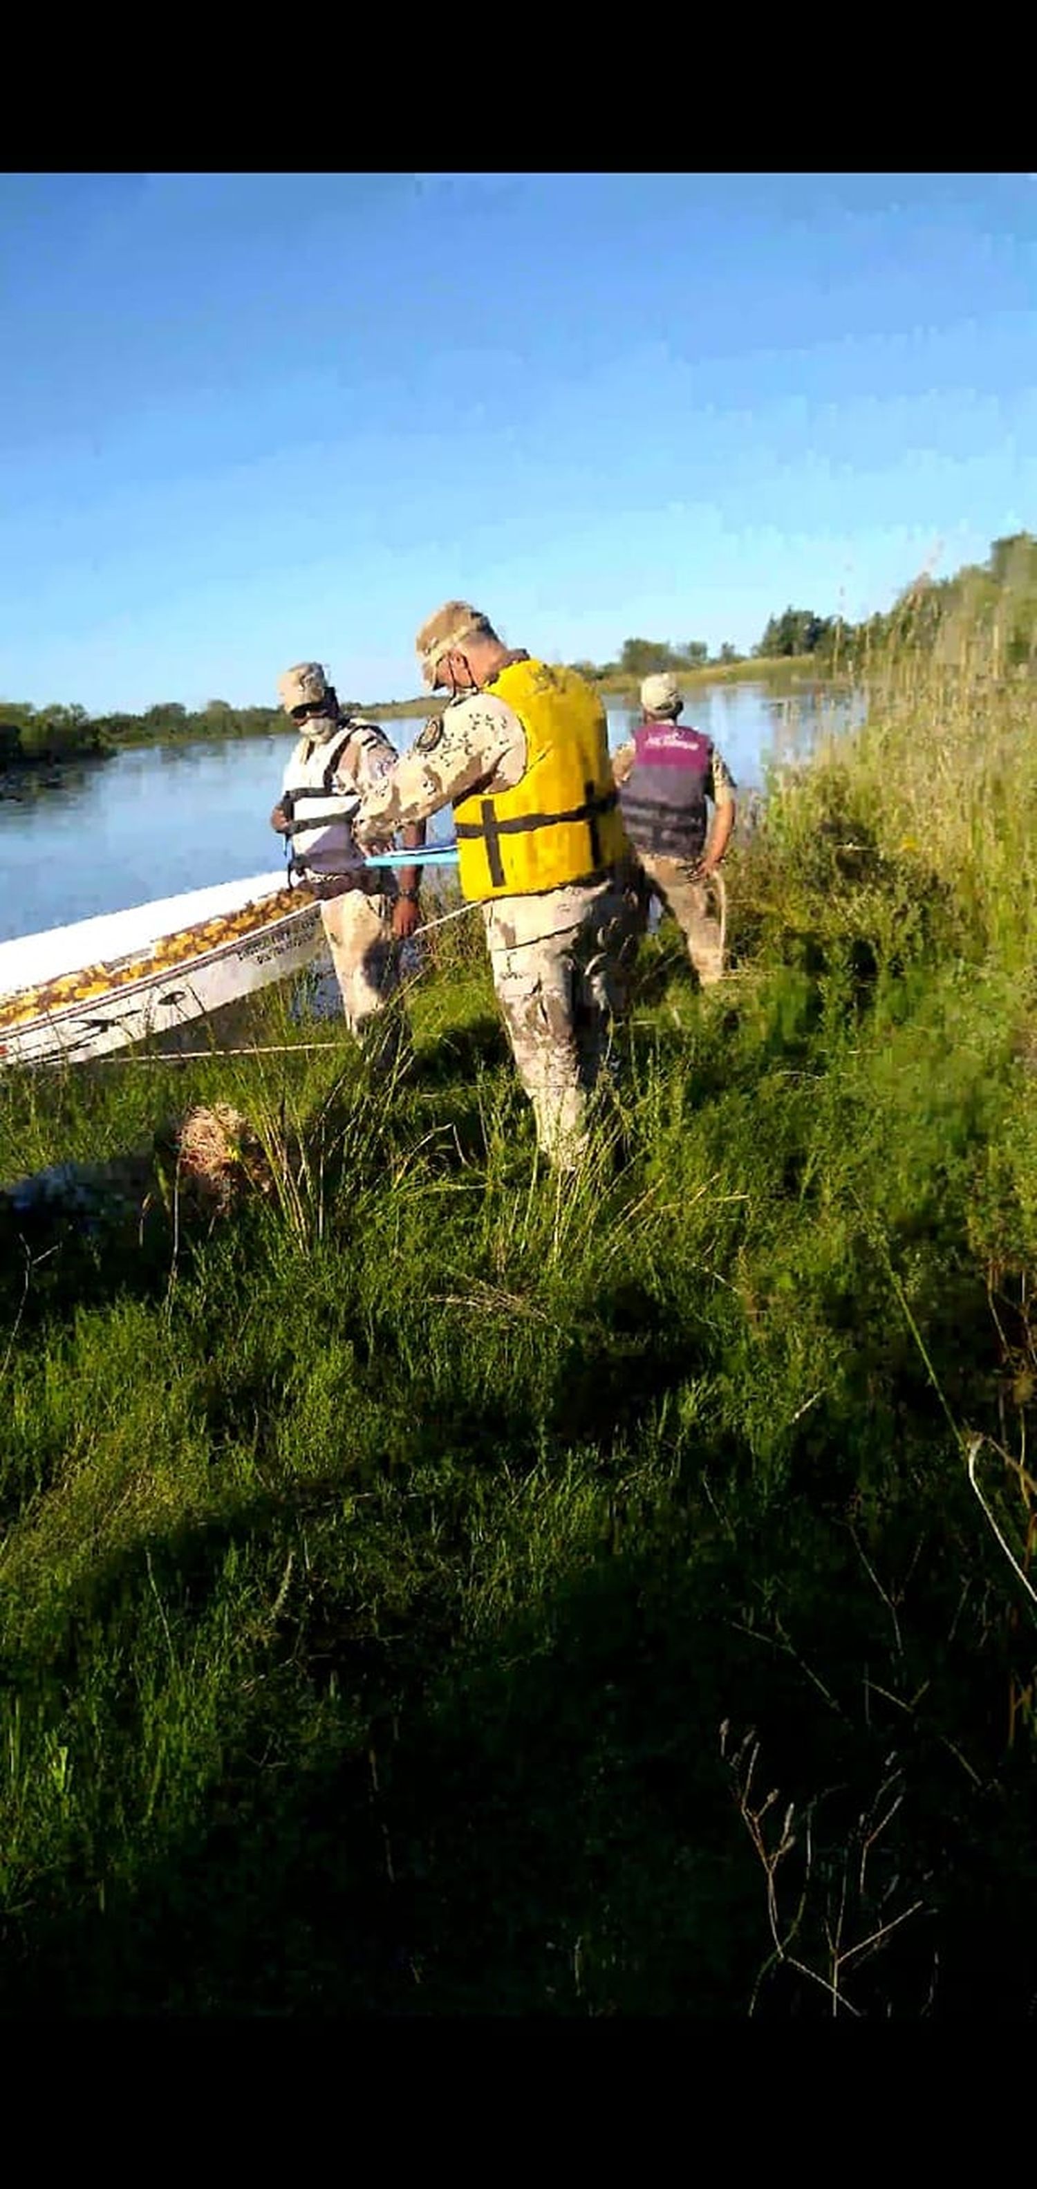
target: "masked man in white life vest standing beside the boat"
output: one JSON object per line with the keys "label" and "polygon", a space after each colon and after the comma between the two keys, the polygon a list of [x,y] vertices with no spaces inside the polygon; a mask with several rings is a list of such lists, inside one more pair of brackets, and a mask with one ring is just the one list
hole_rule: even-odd
{"label": "masked man in white life vest standing beside the boat", "polygon": [[[396,762],[376,722],[348,716],[319,661],[298,661],[278,676],[298,744],[284,768],[271,827],[291,843],[293,873],[322,900],[324,933],[341,989],[346,1024],[378,1062],[409,1053],[400,994],[400,946],[420,926],[420,867],[365,867],[352,821],[365,790]],[[420,849],[424,823],[403,830],[405,852]],[[392,830],[370,849],[389,852]]]}

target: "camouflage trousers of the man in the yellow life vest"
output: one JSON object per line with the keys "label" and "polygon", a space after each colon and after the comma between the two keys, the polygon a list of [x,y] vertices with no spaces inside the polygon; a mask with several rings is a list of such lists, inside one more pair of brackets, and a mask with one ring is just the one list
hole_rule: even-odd
{"label": "camouflage trousers of the man in the yellow life vest", "polygon": [[[532,1101],[536,1143],[562,1171],[589,1145],[589,1110],[613,1068],[637,926],[615,884],[567,891],[578,917],[554,935],[508,939],[488,924],[490,972],[514,1068]],[[582,902],[580,902],[582,900]]]}

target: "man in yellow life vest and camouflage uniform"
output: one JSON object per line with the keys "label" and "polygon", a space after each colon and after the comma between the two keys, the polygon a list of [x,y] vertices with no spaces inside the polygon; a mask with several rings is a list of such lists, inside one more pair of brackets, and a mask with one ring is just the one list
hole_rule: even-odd
{"label": "man in yellow life vest and camouflage uniform", "polygon": [[589,1099],[626,1000],[626,836],[597,692],[569,668],[510,652],[466,600],[422,624],[418,659],[448,707],[361,795],[370,843],[455,810],[459,882],[483,906],[497,998],[540,1149],[573,1169]]}

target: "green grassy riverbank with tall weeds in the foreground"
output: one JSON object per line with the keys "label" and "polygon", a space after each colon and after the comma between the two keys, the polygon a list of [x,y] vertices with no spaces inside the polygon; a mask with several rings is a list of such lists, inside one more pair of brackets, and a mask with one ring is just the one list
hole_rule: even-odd
{"label": "green grassy riverbank with tall weeds in the foreground", "polygon": [[0,1079],[0,1178],[193,1099],[273,1178],[4,1241],[7,2012],[1033,2010],[1035,843],[1033,683],[904,661],[578,1191],[466,922],[392,1099]]}

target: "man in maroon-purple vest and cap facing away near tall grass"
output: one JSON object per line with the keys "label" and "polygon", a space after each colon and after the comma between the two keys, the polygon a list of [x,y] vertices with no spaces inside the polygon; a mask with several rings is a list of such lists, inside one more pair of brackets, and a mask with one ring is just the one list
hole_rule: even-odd
{"label": "man in maroon-purple vest and cap facing away near tall grass", "polygon": [[715,744],[678,720],[683,705],[676,676],[645,676],[643,720],[613,753],[613,773],[641,867],[645,917],[650,897],[661,897],[685,935],[702,987],[711,987],[724,976],[724,884],[718,891],[711,878],[731,843],[737,786]]}

